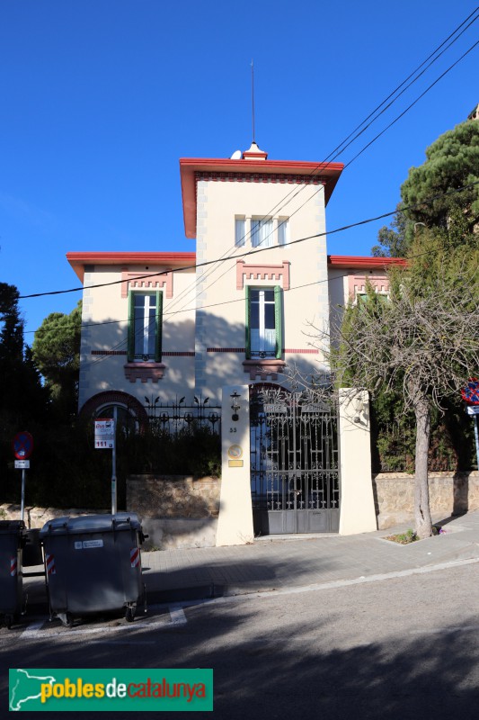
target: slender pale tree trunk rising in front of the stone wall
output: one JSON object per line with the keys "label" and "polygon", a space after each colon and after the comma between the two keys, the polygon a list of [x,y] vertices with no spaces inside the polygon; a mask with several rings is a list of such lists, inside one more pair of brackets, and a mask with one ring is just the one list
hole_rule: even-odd
{"label": "slender pale tree trunk rising in front of the stone wall", "polygon": [[413,406],[416,416],[414,517],[416,522],[416,535],[423,538],[430,537],[432,535],[428,484],[430,401],[427,395],[419,388],[414,389]]}

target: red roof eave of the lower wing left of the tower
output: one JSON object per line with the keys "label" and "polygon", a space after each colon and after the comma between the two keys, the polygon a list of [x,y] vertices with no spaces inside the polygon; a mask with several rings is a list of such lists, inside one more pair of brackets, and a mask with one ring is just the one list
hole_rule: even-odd
{"label": "red roof eave of the lower wing left of the tower", "polygon": [[75,274],[84,282],[84,266],[86,265],[120,265],[120,266],[193,266],[196,253],[155,253],[155,252],[92,252],[67,253],[67,260],[75,270]]}

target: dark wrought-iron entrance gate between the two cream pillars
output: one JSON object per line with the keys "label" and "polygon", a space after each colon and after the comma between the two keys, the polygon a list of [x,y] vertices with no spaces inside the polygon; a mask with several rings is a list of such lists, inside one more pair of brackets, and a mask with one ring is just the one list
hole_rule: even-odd
{"label": "dark wrought-iron entrance gate between the two cream pillars", "polygon": [[333,401],[319,392],[254,393],[251,480],[255,533],[338,532],[340,480]]}

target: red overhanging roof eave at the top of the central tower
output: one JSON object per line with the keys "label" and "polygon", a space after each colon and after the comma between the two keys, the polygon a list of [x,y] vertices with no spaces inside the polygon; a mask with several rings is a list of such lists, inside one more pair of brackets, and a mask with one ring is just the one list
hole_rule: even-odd
{"label": "red overhanging roof eave at the top of the central tower", "polygon": [[342,163],[311,163],[299,160],[231,160],[228,158],[181,157],[184,230],[187,238],[196,238],[195,172],[260,173],[261,175],[321,175],[325,178],[324,199],[328,203],[342,174]]}

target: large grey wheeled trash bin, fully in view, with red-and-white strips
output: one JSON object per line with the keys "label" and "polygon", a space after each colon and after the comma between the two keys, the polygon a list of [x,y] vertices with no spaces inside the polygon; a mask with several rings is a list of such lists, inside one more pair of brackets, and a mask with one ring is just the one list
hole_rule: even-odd
{"label": "large grey wheeled trash bin, fully in view, with red-and-white strips", "polygon": [[145,602],[141,523],[135,513],[56,518],[40,530],[50,614],[74,617],[124,610],[131,621]]}

